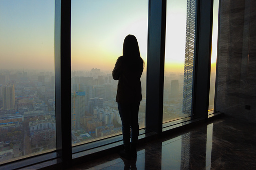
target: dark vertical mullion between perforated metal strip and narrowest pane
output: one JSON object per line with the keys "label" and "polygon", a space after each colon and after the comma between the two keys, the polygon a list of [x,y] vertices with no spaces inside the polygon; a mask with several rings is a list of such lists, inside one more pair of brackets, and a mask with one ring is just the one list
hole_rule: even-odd
{"label": "dark vertical mullion between perforated metal strip and narrowest pane", "polygon": [[194,61],[193,114],[207,118],[209,106],[213,0],[198,1]]}

